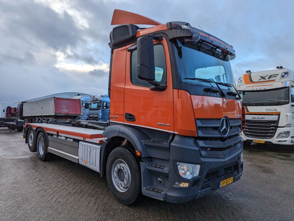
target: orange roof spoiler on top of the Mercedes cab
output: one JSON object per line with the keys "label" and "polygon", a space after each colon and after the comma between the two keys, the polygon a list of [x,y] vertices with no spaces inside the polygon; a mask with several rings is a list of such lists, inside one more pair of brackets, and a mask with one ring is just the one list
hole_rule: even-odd
{"label": "orange roof spoiler on top of the Mercedes cab", "polygon": [[114,9],[111,25],[122,25],[125,23],[136,25],[163,25],[163,23],[155,21],[143,15],[139,15],[129,11]]}

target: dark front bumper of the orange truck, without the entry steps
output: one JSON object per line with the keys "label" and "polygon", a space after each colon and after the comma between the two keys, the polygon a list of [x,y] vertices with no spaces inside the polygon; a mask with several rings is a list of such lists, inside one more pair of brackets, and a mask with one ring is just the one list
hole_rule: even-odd
{"label": "dark front bumper of the orange truck, without the entry steps", "polygon": [[[185,144],[185,145],[183,145]],[[219,188],[219,181],[233,176],[233,183],[240,179],[243,173],[241,162],[242,147],[226,158],[202,158],[192,137],[176,136],[171,144],[169,188],[166,201],[183,203],[193,198],[201,198]],[[186,180],[178,174],[176,161],[201,164],[199,176]],[[173,187],[175,182],[191,183],[188,188]]]}

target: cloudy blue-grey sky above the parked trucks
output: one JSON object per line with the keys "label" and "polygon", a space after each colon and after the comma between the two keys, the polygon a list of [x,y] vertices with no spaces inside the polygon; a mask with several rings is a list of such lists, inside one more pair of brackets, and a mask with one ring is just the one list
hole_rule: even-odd
{"label": "cloudy blue-grey sky above the parked trucks", "polygon": [[0,0],[0,102],[107,93],[114,9],[185,21],[234,46],[245,70],[294,69],[294,1]]}

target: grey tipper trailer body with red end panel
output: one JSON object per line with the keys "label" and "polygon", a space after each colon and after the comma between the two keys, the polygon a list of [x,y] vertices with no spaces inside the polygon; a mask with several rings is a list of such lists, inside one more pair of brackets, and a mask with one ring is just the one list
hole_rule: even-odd
{"label": "grey tipper trailer body with red end panel", "polygon": [[80,99],[47,97],[30,102],[19,102],[18,118],[25,123],[74,120],[83,115]]}

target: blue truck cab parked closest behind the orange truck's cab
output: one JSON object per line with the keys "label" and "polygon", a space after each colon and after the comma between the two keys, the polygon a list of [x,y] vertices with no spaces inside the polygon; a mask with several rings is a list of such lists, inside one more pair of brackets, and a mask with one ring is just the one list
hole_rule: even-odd
{"label": "blue truck cab parked closest behind the orange truck's cab", "polygon": [[108,95],[93,96],[89,103],[88,119],[92,121],[108,121],[110,99]]}

